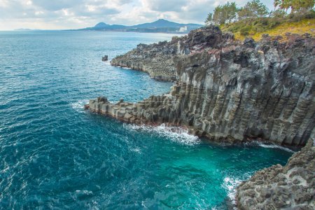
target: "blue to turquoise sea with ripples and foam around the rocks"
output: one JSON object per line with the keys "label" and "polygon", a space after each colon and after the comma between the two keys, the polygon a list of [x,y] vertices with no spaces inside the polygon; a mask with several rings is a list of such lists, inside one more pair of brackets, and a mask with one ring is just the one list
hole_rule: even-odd
{"label": "blue to turquoise sea with ripples and foam around the rocks", "polygon": [[290,151],[218,146],[83,111],[172,83],[101,61],[167,34],[0,32],[0,209],[227,209],[239,181]]}

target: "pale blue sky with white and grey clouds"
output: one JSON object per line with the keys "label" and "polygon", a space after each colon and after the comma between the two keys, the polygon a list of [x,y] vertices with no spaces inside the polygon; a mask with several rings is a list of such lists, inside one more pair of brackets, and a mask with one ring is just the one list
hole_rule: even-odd
{"label": "pale blue sky with white and grey clouds", "polygon": [[[244,6],[247,0],[237,0]],[[273,0],[261,0],[273,8]],[[160,18],[203,24],[217,0],[0,0],[0,30],[80,29],[97,22],[137,25]]]}

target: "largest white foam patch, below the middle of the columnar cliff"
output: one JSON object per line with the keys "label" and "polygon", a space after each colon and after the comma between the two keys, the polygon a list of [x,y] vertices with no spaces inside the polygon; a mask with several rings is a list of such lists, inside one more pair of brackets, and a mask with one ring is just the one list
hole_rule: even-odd
{"label": "largest white foam patch, below the middle of the columnar cliff", "polygon": [[159,126],[148,125],[127,125],[125,127],[131,130],[144,130],[146,132],[153,132],[159,137],[171,139],[180,144],[195,145],[200,144],[200,139],[194,135],[188,134],[188,131],[181,127],[167,127],[165,124]]}

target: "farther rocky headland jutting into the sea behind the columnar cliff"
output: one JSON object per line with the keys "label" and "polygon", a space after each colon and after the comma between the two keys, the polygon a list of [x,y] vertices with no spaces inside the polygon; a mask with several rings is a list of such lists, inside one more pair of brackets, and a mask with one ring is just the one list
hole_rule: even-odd
{"label": "farther rocky headland jutting into the sea behind the columnar cliff", "polygon": [[[232,38],[232,34],[225,34],[218,27],[208,27],[179,38],[174,36],[172,41],[162,41],[151,45],[139,44],[137,48],[111,60],[113,66],[146,71],[157,80],[176,80],[176,55],[188,55],[197,50],[222,43],[222,38]],[[226,41],[225,39],[225,41]]]}

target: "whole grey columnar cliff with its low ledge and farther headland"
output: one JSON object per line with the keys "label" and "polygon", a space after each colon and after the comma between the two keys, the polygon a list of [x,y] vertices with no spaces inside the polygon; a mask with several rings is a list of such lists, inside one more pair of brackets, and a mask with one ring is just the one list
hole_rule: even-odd
{"label": "whole grey columnar cliff with its low ledge and farther headland", "polygon": [[138,45],[111,64],[176,78],[170,94],[137,104],[91,100],[90,110],[130,123],[184,125],[218,141],[260,137],[303,146],[315,125],[315,40],[287,38],[239,43],[208,27],[171,42]]}

